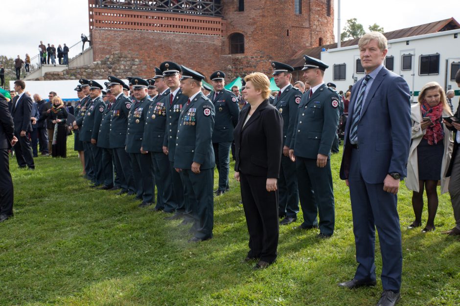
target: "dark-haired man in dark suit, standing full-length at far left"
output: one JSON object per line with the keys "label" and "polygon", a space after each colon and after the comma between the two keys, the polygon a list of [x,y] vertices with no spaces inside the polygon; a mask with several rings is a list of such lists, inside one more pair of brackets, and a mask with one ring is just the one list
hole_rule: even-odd
{"label": "dark-haired man in dark suit, standing full-length at far left", "polygon": [[32,131],[32,122],[30,121],[30,117],[32,117],[32,98],[24,92],[24,89],[24,81],[17,80],[14,82],[14,90],[18,92],[18,95],[13,99],[11,115],[14,122],[14,135],[19,140],[14,146],[14,152],[19,168],[27,166],[29,170],[34,170],[32,147],[27,135],[28,132]]}

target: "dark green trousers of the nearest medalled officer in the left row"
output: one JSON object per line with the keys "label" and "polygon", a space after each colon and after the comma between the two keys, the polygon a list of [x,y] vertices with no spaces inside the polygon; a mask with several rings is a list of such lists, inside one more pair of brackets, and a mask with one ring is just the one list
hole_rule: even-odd
{"label": "dark green trousers of the nearest medalled officer in the left row", "polygon": [[198,174],[184,169],[181,176],[190,208],[185,216],[191,216],[194,221],[194,235],[201,240],[211,239],[214,225],[214,169],[201,170]]}

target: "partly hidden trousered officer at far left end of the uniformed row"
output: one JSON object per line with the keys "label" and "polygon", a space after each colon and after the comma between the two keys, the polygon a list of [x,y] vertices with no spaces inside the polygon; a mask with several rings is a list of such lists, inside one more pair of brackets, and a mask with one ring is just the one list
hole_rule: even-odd
{"label": "partly hidden trousered officer at far left end of the uniformed row", "polygon": [[[78,131],[78,139],[82,141],[80,135],[80,129],[83,123],[83,118],[85,116],[86,110],[90,107],[90,104],[92,103],[92,99],[90,97],[90,86],[88,83],[90,82],[89,80],[86,79],[80,79],[78,81],[80,83],[80,88],[84,94],[84,98],[81,100],[81,108],[80,111],[75,115],[75,121],[73,122],[73,130]],[[90,139],[91,141],[91,139]],[[83,154],[84,154],[84,160],[85,160],[85,173],[86,173],[86,178],[94,182],[94,170],[92,169],[92,164],[90,163],[90,151],[91,147],[89,144],[84,144],[82,141],[83,145]]]}

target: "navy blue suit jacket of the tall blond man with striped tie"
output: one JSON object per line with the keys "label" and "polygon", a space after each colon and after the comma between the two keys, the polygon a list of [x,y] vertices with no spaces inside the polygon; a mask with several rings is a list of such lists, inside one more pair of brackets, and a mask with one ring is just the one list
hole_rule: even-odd
{"label": "navy blue suit jacket of the tall blond man with striped tie", "polygon": [[[347,179],[350,170],[352,148],[349,133],[363,79],[351,88],[344,155],[340,167],[341,179]],[[358,125],[361,173],[369,184],[383,183],[387,174],[393,172],[401,176],[407,175],[407,158],[411,145],[409,92],[406,81],[385,67],[380,70],[369,88]]]}

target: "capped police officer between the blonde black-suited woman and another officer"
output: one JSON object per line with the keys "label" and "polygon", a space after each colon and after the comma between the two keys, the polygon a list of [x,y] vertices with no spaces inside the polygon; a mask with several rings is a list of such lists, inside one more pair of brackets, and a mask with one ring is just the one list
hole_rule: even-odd
{"label": "capped police officer between the blonde black-suited woman and another officer", "polygon": [[273,105],[283,117],[283,154],[278,180],[279,210],[283,218],[279,224],[286,225],[297,220],[299,212],[299,190],[297,188],[296,164],[289,158],[292,133],[297,124],[297,109],[302,93],[291,85],[294,68],[279,62],[273,62],[273,76],[276,86],[281,88]]}

